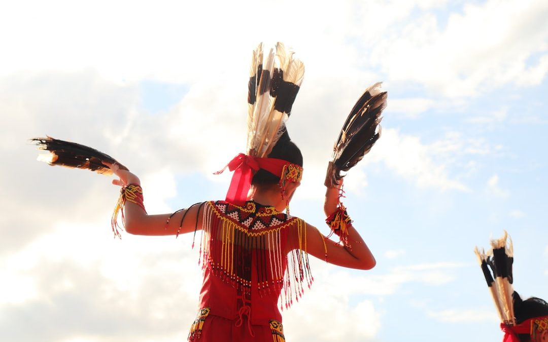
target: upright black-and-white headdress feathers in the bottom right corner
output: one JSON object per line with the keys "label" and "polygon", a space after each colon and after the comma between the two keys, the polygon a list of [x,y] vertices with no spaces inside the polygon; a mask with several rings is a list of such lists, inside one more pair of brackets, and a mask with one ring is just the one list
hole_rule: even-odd
{"label": "upright black-and-white headdress feathers in the bottom right corner", "polygon": [[487,253],[484,250],[479,251],[478,247],[474,252],[495,302],[500,321],[506,326],[513,326],[516,319],[512,302],[512,239],[505,231],[503,237],[491,241],[491,249]]}

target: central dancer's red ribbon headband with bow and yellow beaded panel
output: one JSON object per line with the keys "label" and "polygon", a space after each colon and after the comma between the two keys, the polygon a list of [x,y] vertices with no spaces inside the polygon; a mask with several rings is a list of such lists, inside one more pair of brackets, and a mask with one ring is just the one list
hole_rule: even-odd
{"label": "central dancer's red ribbon headband with bow and yellow beaded panel", "polygon": [[230,181],[229,191],[226,193],[226,201],[236,205],[242,205],[247,200],[254,171],[259,169],[269,171],[272,175],[280,177],[282,186],[286,181],[300,182],[302,178],[302,167],[299,165],[283,159],[255,158],[243,153],[235,156],[222,170],[215,172],[215,175],[219,175],[227,167],[230,171],[234,171],[234,175]]}

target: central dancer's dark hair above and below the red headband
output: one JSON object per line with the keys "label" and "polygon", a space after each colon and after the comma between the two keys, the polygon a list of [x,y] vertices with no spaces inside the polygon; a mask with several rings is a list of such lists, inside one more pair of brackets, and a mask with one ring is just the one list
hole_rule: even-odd
{"label": "central dancer's dark hair above and below the red headband", "polygon": [[[276,145],[272,148],[268,158],[287,160],[289,163],[297,164],[302,167],[301,150],[293,141],[291,141],[287,130],[283,132]],[[254,186],[271,186],[279,183],[279,176],[280,175],[276,176],[269,171],[260,169],[253,176],[251,183]]]}

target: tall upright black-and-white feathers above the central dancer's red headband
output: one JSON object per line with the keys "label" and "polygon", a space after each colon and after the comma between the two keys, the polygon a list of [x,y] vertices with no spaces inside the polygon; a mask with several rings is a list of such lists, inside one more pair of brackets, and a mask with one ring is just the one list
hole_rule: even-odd
{"label": "tall upright black-and-white feathers above the central dancer's red headband", "polygon": [[278,42],[265,54],[260,43],[253,51],[248,92],[247,154],[265,157],[286,130],[295,97],[304,77],[304,64]]}

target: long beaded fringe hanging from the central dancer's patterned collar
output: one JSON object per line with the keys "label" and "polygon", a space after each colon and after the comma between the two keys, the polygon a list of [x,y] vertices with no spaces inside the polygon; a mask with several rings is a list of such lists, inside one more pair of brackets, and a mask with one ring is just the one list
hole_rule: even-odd
{"label": "long beaded fringe hanging from the central dancer's patterned collar", "polygon": [[[282,237],[285,239],[285,228],[293,224],[298,230],[299,248],[284,255]],[[251,257],[255,257],[259,294],[281,291],[281,309],[288,309],[294,299],[298,301],[302,296],[305,286],[310,288],[313,281],[306,253],[305,228],[304,221],[295,217],[276,227],[251,231],[222,215],[212,202],[207,202],[203,211],[198,262],[221,280],[250,293],[250,271],[246,271],[246,261],[236,257],[247,255],[248,266]],[[214,240],[217,243],[213,244]]]}

